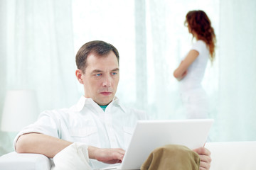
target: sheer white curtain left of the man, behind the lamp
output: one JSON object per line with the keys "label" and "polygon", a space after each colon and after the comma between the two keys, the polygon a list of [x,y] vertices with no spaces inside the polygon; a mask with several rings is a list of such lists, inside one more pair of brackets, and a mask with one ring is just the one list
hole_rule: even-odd
{"label": "sheer white curtain left of the man, behind the lamp", "polygon": [[[71,106],[80,96],[74,76],[72,2],[6,0],[0,6],[1,111],[6,91],[12,89],[35,90],[41,111]],[[0,135],[1,150],[8,152],[12,141],[6,132]]]}

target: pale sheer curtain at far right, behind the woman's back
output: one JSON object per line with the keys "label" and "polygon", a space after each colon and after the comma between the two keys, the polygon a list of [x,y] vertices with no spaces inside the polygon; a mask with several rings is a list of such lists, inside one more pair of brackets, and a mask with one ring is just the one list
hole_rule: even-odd
{"label": "pale sheer curtain at far right, behind the woman's back", "polygon": [[220,2],[218,140],[256,140],[256,1]]}

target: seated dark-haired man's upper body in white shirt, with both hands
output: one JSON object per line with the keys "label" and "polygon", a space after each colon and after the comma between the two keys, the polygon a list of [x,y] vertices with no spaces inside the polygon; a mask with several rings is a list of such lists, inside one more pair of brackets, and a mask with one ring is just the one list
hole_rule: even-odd
{"label": "seated dark-haired man's upper body in white shirt, with both hands", "polygon": [[[140,111],[125,108],[115,97],[119,82],[119,53],[103,41],[82,45],[76,55],[75,75],[83,84],[85,96],[68,109],[45,111],[14,140],[16,152],[38,153],[53,158],[74,142],[86,144],[90,166],[122,162],[130,132],[137,120],[146,119]],[[123,149],[121,149],[123,148]],[[201,166],[210,166],[210,152],[195,150]]]}

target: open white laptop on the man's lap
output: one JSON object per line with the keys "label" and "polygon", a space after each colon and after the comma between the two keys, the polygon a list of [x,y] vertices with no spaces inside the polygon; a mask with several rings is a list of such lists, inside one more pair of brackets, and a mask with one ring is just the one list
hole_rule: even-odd
{"label": "open white laptop on the man's lap", "polygon": [[122,164],[105,169],[140,169],[149,154],[164,145],[203,147],[212,124],[213,119],[139,120]]}

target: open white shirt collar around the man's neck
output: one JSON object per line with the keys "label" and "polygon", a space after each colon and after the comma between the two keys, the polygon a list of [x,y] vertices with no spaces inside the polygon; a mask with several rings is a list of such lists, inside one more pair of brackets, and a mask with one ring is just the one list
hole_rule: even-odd
{"label": "open white shirt collar around the man's neck", "polygon": [[[85,96],[81,96],[78,103],[76,103],[75,106],[72,107],[72,109],[74,111],[80,112],[80,111],[82,111],[82,108],[84,108],[85,104],[92,104],[92,103],[95,103],[95,101],[93,101],[92,98],[85,98]],[[95,104],[97,104],[97,103],[95,103]],[[122,108],[122,110],[124,112],[126,112],[126,108],[124,108],[124,106],[120,105],[119,98],[117,98],[116,96],[114,96],[114,99],[110,104],[119,106],[120,108]]]}

